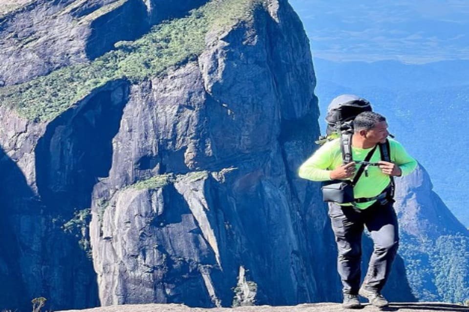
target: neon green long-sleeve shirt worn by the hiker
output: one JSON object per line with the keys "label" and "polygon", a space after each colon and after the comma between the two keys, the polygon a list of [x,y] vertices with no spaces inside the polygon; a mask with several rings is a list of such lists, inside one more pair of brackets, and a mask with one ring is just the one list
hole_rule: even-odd
{"label": "neon green long-sleeve shirt worn by the hiker", "polygon": [[[391,161],[401,168],[402,176],[408,175],[417,167],[417,161],[405,151],[404,147],[396,140],[389,139]],[[352,146],[352,159],[362,161],[372,148],[362,149]],[[380,149],[377,148],[371,156],[370,162],[381,160]],[[298,176],[312,181],[331,180],[330,173],[342,164],[340,138],[322,145],[311,157],[309,157],[298,169]],[[356,165],[357,171],[360,165]],[[350,178],[350,179],[353,179]],[[364,173],[355,185],[354,197],[374,197],[381,194],[389,185],[390,178],[381,172],[376,166],[368,167],[368,176]],[[360,209],[366,209],[375,201],[356,204]],[[343,204],[350,205],[350,204]]]}

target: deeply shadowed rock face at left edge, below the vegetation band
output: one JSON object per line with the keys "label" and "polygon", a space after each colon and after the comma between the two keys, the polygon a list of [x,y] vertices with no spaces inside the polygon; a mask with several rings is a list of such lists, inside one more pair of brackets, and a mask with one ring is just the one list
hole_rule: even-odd
{"label": "deeply shadowed rock face at left edge, below the vegetation band", "polygon": [[[30,300],[23,297],[39,296],[58,308],[98,304],[92,264],[77,245],[78,233],[65,233],[64,224],[90,207],[96,177],[107,174],[106,162],[96,161],[111,153],[125,99],[125,82],[115,81],[49,123],[1,108],[5,308],[24,309]],[[90,142],[93,133],[100,136]]]}

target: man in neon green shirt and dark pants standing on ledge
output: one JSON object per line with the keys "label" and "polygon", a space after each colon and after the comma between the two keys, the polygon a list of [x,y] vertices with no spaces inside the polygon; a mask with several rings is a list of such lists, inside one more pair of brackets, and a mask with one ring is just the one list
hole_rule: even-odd
{"label": "man in neon green shirt and dark pants standing on ledge", "polygon": [[[336,138],[326,142],[306,160],[298,175],[313,181],[336,180],[352,185],[351,202],[328,200],[328,215],[339,253],[337,267],[343,285],[342,305],[344,308],[361,308],[358,297],[361,295],[372,305],[385,307],[388,302],[381,295],[381,290],[399,243],[397,216],[392,207],[393,176],[409,174],[417,162],[399,142],[387,138],[386,119],[380,114],[366,111],[357,115],[350,136],[353,161],[343,163],[343,142]],[[384,148],[388,150],[389,161],[383,160],[383,155],[386,155]],[[338,191],[341,192],[341,188],[337,188]],[[324,193],[324,197],[327,196]],[[363,226],[371,234],[374,250],[360,286]]]}

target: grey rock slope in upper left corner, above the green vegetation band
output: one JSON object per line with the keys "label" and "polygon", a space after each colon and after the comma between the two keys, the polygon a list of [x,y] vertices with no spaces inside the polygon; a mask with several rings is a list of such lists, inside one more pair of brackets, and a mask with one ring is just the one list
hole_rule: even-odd
{"label": "grey rock slope in upper left corner, above the green vegetation band", "polygon": [[96,59],[112,50],[117,41],[135,40],[152,25],[181,17],[205,2],[26,2],[0,16],[0,86],[25,82],[64,66]]}

